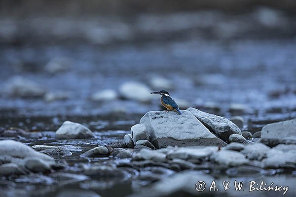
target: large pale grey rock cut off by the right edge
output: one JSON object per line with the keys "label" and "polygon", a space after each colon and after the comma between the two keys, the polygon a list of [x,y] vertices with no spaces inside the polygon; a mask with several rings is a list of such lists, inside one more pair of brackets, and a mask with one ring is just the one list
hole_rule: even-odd
{"label": "large pale grey rock cut off by the right edge", "polygon": [[296,119],[271,123],[262,128],[261,142],[270,146],[296,144]]}

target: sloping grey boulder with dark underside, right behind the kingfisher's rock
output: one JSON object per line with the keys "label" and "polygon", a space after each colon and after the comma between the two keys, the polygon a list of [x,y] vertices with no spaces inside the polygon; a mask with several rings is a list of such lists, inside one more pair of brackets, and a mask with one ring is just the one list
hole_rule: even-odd
{"label": "sloping grey boulder with dark underside, right behind the kingfisher's rock", "polygon": [[214,132],[225,142],[228,142],[228,138],[231,134],[242,134],[240,129],[234,123],[224,117],[206,113],[193,107],[189,107],[187,110],[202,122],[206,128],[211,132]]}

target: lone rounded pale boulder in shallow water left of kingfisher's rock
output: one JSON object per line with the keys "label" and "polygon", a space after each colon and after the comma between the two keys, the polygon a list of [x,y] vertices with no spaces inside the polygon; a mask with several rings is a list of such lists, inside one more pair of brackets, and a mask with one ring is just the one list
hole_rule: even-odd
{"label": "lone rounded pale boulder in shallow water left of kingfisher's rock", "polygon": [[56,131],[57,139],[84,139],[92,137],[94,137],[94,133],[92,131],[79,123],[71,121],[65,121]]}

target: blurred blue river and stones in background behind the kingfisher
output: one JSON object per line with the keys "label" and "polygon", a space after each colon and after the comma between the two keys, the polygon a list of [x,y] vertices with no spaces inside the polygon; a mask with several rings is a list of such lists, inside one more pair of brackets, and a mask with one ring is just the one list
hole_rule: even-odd
{"label": "blurred blue river and stones in background behind the kingfisher", "polygon": [[165,89],[259,131],[296,117],[295,82],[295,0],[0,0],[1,127],[136,122]]}

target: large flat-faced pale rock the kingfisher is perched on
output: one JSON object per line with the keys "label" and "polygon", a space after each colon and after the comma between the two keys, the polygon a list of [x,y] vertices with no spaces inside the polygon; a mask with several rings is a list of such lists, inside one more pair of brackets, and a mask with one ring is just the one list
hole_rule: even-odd
{"label": "large flat-faced pale rock the kingfisher is perched on", "polygon": [[182,110],[182,115],[174,111],[150,111],[141,118],[140,123],[147,127],[150,142],[156,148],[169,145],[226,145],[187,110]]}

